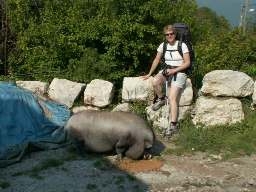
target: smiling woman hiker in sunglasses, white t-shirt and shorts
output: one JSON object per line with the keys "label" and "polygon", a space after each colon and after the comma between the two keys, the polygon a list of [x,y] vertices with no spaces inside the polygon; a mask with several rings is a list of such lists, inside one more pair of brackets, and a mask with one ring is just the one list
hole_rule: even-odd
{"label": "smiling woman hiker in sunglasses, white t-shirt and shorts", "polygon": [[[166,75],[169,76],[169,103],[170,103],[170,113],[171,113],[171,122],[170,122],[170,129],[167,133],[177,133],[178,132],[178,124],[177,124],[177,116],[178,116],[178,104],[177,104],[177,96],[180,90],[183,88],[184,84],[186,84],[187,76],[184,73],[185,69],[188,68],[190,65],[190,56],[188,52],[188,47],[185,43],[182,43],[182,53],[183,58],[178,52],[178,40],[176,40],[176,29],[172,25],[167,25],[164,27],[164,35],[166,40],[168,41],[167,50],[164,55],[165,62],[168,65],[166,69]],[[157,49],[156,58],[154,59],[151,69],[147,75],[140,76],[143,80],[148,79],[158,66],[162,54],[163,54],[163,45]],[[177,51],[168,51],[168,50],[177,50]],[[174,74],[176,78],[174,78]],[[158,98],[157,102],[152,106],[153,110],[158,110],[160,107],[164,106],[165,104],[165,96],[162,92],[162,85],[166,84],[166,77],[160,71],[156,76],[154,76],[152,80],[152,85],[154,91],[156,92]]]}

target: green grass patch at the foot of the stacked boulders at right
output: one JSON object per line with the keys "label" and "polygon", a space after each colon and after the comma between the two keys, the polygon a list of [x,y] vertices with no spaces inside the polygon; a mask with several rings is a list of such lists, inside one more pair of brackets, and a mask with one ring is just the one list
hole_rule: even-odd
{"label": "green grass patch at the foot of the stacked boulders at right", "polygon": [[192,123],[189,114],[179,123],[179,134],[173,137],[177,148],[162,154],[193,153],[220,154],[223,160],[256,153],[256,110],[250,109],[250,98],[241,99],[245,119],[234,125],[205,126]]}

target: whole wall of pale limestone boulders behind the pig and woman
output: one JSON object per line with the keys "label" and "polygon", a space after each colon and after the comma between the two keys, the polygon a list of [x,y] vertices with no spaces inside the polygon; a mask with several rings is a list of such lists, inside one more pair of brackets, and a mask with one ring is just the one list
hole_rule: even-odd
{"label": "whole wall of pale limestone boulders behind the pig and woman", "polygon": [[[197,122],[206,125],[234,124],[244,119],[242,104],[238,98],[252,95],[252,101],[256,104],[256,82],[243,72],[212,71],[204,76],[202,83],[199,97],[193,104],[193,95],[197,93],[193,93],[191,80],[187,79],[186,86],[177,98],[178,120],[192,111],[194,124]],[[114,84],[100,79],[92,80],[87,85],[58,78],[54,78],[50,84],[28,81],[17,81],[16,84],[66,104],[74,113],[81,110],[102,110],[112,103],[114,96]],[[74,101],[81,96],[84,97],[85,106],[74,107]],[[166,107],[153,111],[151,108],[154,96],[152,77],[145,81],[138,77],[126,77],[123,81],[122,103],[113,111],[130,111],[134,100],[146,101],[149,104],[145,109],[148,120],[152,120],[154,126],[162,128],[167,124]]]}

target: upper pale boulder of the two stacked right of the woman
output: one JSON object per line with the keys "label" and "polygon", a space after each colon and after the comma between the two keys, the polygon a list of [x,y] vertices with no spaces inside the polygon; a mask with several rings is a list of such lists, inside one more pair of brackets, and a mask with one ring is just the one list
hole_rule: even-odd
{"label": "upper pale boulder of the two stacked right of the woman", "polygon": [[246,97],[253,92],[253,80],[243,72],[215,70],[203,78],[200,96]]}

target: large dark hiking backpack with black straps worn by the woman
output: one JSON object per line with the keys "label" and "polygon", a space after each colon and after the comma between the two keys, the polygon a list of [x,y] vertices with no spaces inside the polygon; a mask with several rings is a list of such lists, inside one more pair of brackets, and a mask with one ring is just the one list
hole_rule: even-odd
{"label": "large dark hiking backpack with black straps worn by the woman", "polygon": [[[185,23],[174,23],[173,26],[176,28],[176,40],[178,40],[178,49],[177,50],[167,50],[167,44],[168,41],[166,40],[164,42],[164,47],[163,47],[163,56],[165,55],[166,51],[178,51],[180,56],[182,56],[183,58],[183,53],[182,53],[182,48],[181,45],[182,43],[185,43],[188,47],[188,52],[189,52],[189,56],[190,56],[190,65],[188,66],[188,68],[185,69],[185,73],[187,75],[190,75],[192,73],[192,70],[194,69],[195,66],[195,62],[194,62],[194,58],[195,58],[195,53],[194,53],[194,49],[193,49],[193,45],[191,44],[190,40],[190,28],[187,24]],[[164,62],[165,64],[165,62]]]}

